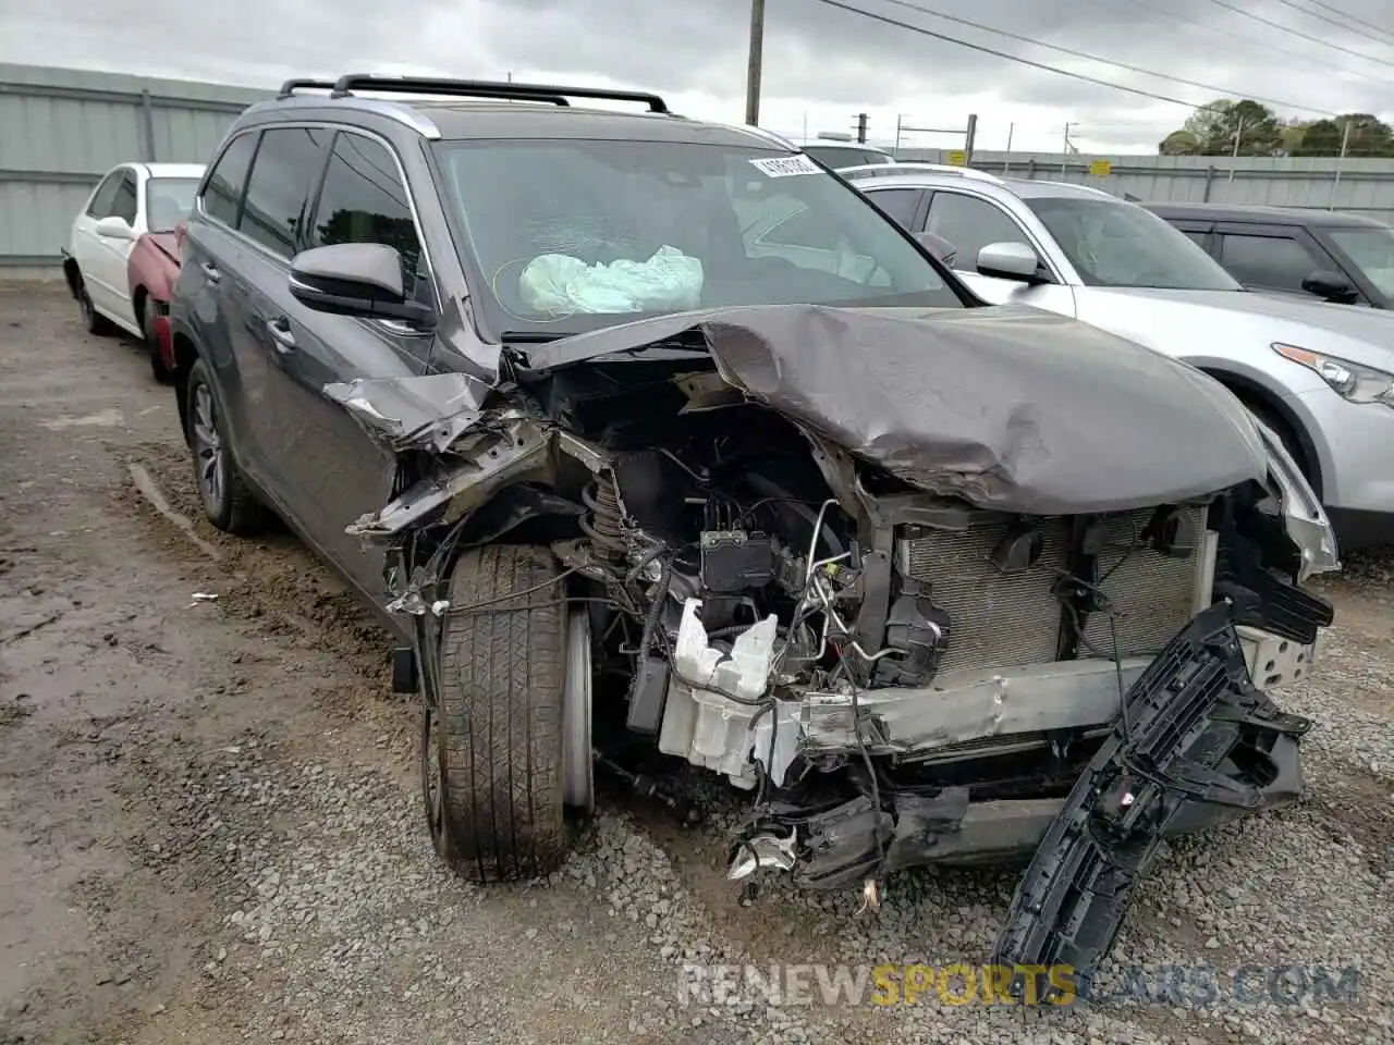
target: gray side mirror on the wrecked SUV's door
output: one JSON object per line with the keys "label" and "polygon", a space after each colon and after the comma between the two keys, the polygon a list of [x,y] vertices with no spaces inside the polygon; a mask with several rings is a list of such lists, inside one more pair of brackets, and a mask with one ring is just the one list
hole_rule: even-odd
{"label": "gray side mirror on the wrecked SUV's door", "polygon": [[385,244],[343,242],[301,251],[290,263],[290,293],[316,312],[417,326],[435,322],[429,305],[407,300],[401,255]]}

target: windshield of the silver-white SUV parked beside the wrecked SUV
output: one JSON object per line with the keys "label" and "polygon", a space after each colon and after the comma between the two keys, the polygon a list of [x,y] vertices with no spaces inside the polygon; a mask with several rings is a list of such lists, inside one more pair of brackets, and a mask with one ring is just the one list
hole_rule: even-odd
{"label": "windshield of the silver-white SUV parked beside the wrecked SUV", "polygon": [[1027,199],[1090,287],[1242,290],[1200,247],[1140,206],[1112,199]]}

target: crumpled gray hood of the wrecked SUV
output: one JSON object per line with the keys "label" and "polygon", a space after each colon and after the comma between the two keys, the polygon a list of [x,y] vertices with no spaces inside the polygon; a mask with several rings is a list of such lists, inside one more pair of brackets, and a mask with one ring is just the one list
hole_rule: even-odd
{"label": "crumpled gray hood of the wrecked SUV", "polygon": [[1248,411],[1199,371],[1039,309],[754,305],[528,353],[548,368],[700,332],[722,378],[926,490],[1029,514],[1264,481]]}

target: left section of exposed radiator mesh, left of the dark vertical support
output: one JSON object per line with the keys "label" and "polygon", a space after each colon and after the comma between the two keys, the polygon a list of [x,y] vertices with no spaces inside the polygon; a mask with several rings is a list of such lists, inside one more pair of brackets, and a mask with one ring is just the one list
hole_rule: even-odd
{"label": "left section of exposed radiator mesh, left of the dark vertical support", "polygon": [[949,614],[949,648],[941,672],[1055,659],[1061,606],[1051,588],[1066,566],[1065,521],[1046,522],[1036,566],[1004,574],[991,556],[1009,525],[993,521],[962,531],[934,529],[906,542],[906,571],[928,582],[934,605]]}

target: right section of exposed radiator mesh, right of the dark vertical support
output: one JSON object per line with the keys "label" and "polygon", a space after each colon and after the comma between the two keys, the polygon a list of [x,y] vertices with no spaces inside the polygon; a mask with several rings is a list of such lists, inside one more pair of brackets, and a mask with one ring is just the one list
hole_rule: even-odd
{"label": "right section of exposed radiator mesh, right of the dark vertical support", "polygon": [[[1204,506],[1186,509],[1195,532],[1204,529]],[[1098,556],[1100,588],[1115,610],[1118,652],[1124,656],[1156,653],[1192,616],[1196,595],[1196,559],[1168,559],[1135,541],[1151,520],[1153,510],[1131,511],[1107,521],[1107,546]],[[1129,548],[1132,552],[1129,552]],[[1114,655],[1108,616],[1092,613],[1085,621],[1085,641],[1096,655]]]}

